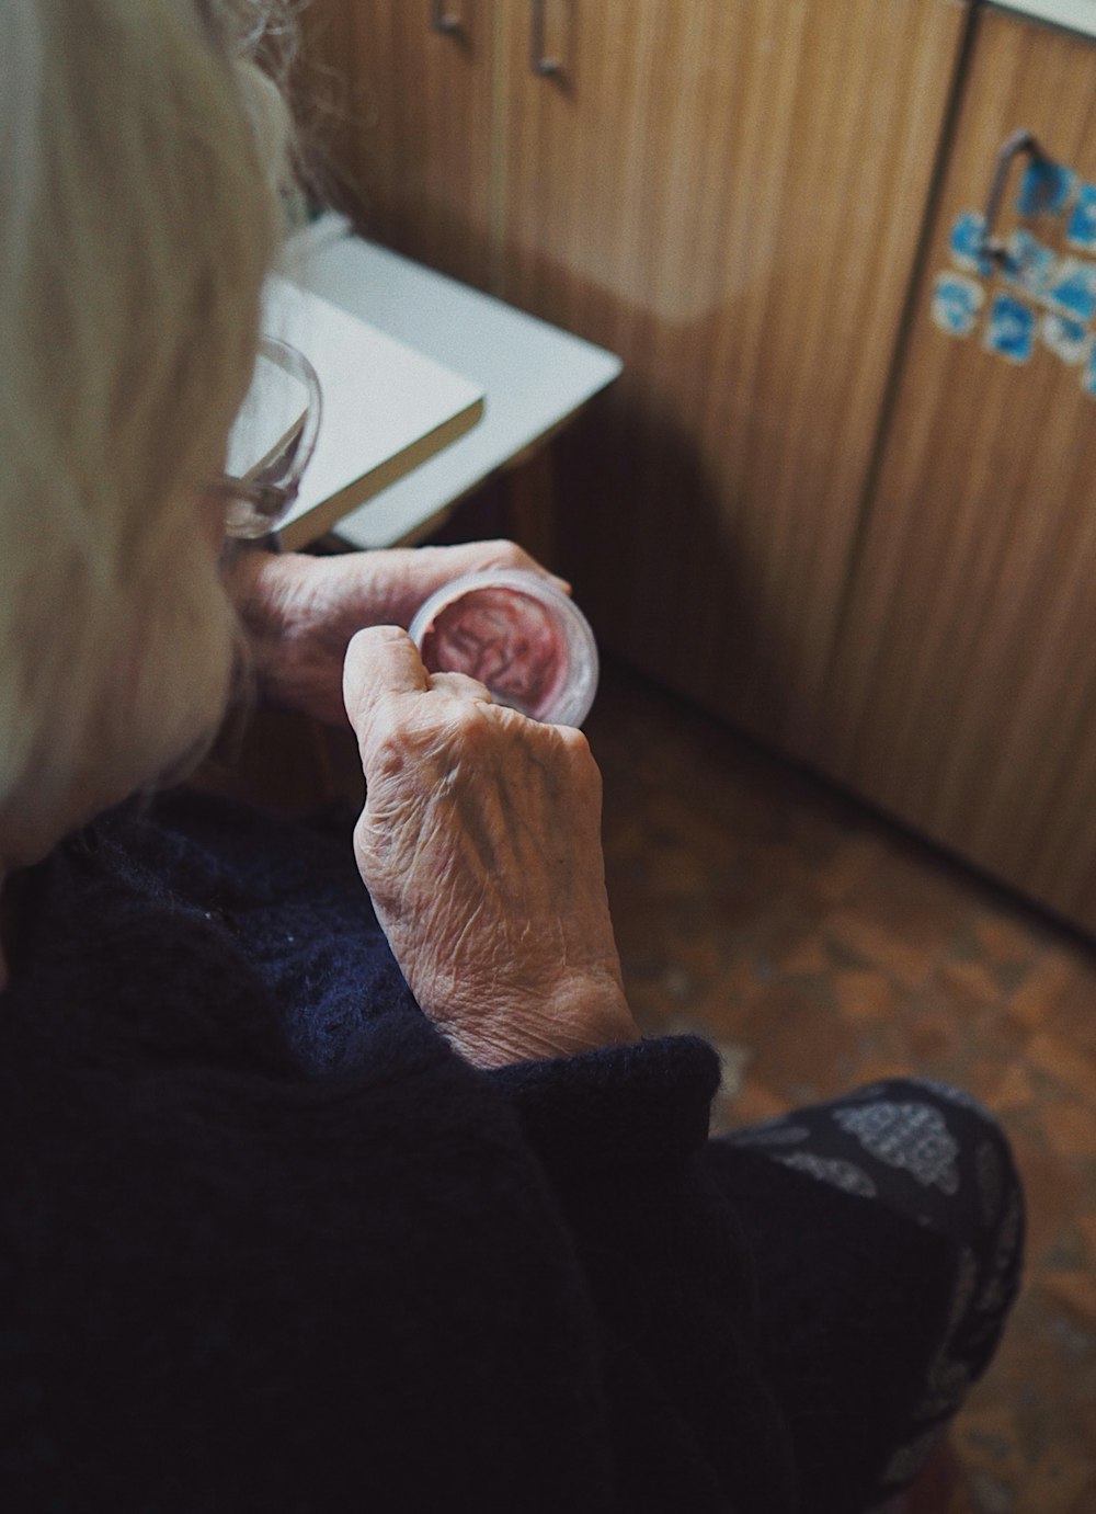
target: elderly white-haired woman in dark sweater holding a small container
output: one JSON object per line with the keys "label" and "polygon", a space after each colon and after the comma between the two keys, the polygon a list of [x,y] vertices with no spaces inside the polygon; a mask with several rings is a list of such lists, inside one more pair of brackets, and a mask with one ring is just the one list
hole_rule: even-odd
{"label": "elderly white-haired woman in dark sweater holding a small container", "polygon": [[[262,9],[0,11],[0,1505],[861,1511],[993,1352],[1007,1148],[917,1081],[708,1143],[586,742],[400,628],[536,565],[226,545]],[[241,663],[348,715],[353,834],[170,787]]]}

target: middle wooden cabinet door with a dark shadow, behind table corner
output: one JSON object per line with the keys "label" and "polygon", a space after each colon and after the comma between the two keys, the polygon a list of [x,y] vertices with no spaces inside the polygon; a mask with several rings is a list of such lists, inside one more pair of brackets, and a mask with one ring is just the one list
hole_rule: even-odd
{"label": "middle wooden cabinet door with a dark shadow, behind table corner", "polygon": [[501,292],[621,353],[559,444],[601,639],[811,749],[967,9],[545,0],[506,45]]}

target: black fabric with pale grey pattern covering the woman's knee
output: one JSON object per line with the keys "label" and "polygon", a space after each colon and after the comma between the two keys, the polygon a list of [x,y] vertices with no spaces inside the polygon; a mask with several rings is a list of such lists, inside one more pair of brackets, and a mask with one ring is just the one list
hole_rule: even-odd
{"label": "black fabric with pale grey pattern covering the woman's knee", "polygon": [[[802,1287],[768,1267],[789,1249],[783,1225],[802,1226],[808,1210],[766,1213],[764,1178],[742,1192],[743,1152],[804,1178],[813,1205],[878,1225],[873,1263],[849,1257],[842,1290],[848,1317],[834,1308],[834,1279],[827,1269],[802,1270]],[[902,1078],[858,1089],[840,1099],[795,1110],[746,1126],[713,1146],[713,1163],[733,1192],[736,1213],[758,1258],[758,1285],[772,1343],[775,1390],[792,1425],[801,1476],[816,1490],[816,1509],[873,1508],[886,1503],[917,1475],[961,1407],[970,1385],[989,1366],[1016,1297],[1023,1249],[1023,1199],[1005,1137],[995,1119],[958,1089],[926,1078]],[[813,1188],[813,1193],[811,1193]],[[943,1241],[923,1290],[946,1281],[948,1305],[926,1357],[889,1352],[880,1337],[863,1363],[863,1379],[849,1393],[851,1360],[861,1322],[878,1322],[878,1301],[889,1288],[889,1246],[926,1234]],[[895,1301],[908,1310],[910,1301]],[[819,1363],[833,1363],[819,1382]],[[840,1364],[840,1367],[837,1366]],[[811,1390],[804,1393],[804,1382]],[[861,1402],[876,1393],[904,1399],[886,1441],[872,1446],[872,1423]],[[845,1470],[842,1470],[845,1469]],[[852,1473],[849,1469],[855,1469]],[[855,1478],[855,1487],[845,1487]],[[831,1500],[837,1502],[831,1502]],[[845,1502],[840,1502],[845,1499]]]}

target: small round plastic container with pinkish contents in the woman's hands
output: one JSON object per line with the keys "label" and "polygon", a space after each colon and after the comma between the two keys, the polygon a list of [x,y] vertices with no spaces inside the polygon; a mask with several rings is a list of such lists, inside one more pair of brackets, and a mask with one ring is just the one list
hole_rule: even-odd
{"label": "small round plastic container with pinkish contents in the woman's hands", "polygon": [[550,725],[581,725],[598,692],[598,646],[583,612],[546,578],[487,569],[454,578],[410,624],[430,672],[465,672]]}

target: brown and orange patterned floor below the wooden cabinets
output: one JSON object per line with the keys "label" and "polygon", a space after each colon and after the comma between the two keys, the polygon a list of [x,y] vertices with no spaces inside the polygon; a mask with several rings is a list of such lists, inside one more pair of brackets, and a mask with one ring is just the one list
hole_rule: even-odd
{"label": "brown and orange patterned floor below the wooden cabinets", "polygon": [[716,1042],[722,1126],[905,1072],[1002,1116],[1026,1285],[940,1514],[1096,1514],[1096,949],[619,669],[587,731],[633,1007]]}

